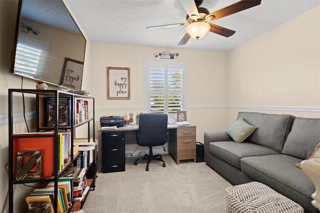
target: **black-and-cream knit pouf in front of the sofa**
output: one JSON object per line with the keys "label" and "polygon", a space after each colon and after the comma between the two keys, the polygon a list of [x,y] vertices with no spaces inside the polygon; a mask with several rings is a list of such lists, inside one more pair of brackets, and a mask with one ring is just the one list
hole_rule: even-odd
{"label": "black-and-cream knit pouf in front of the sofa", "polygon": [[303,208],[258,182],[225,189],[226,213],[304,213]]}

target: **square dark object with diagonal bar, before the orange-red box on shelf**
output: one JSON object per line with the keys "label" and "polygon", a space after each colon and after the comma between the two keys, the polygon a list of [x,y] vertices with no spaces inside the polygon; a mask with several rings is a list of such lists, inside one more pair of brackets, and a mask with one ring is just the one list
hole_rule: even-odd
{"label": "square dark object with diagonal bar, before the orange-red box on shelf", "polygon": [[18,151],[16,154],[16,181],[41,179],[42,151]]}

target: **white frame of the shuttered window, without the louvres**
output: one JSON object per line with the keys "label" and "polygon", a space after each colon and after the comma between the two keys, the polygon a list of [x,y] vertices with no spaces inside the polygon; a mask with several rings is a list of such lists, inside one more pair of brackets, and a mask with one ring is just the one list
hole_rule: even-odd
{"label": "white frame of the shuttered window, without the louvres", "polygon": [[[169,66],[179,66],[179,68],[182,70],[182,101],[181,101],[181,109],[176,110],[176,111],[181,111],[181,110],[186,110],[186,64],[185,63],[176,63],[176,62],[171,62],[171,61],[144,61],[144,112],[145,113],[152,113],[150,110],[150,101],[149,101],[149,67],[151,65],[156,65],[156,66],[163,66],[165,69],[165,91],[164,93],[167,95],[168,94],[168,78],[167,78],[167,73],[168,73],[168,67]],[[168,98],[164,100],[164,111],[161,113],[164,114],[174,114],[176,115],[176,111],[174,112],[169,112],[168,111]]]}

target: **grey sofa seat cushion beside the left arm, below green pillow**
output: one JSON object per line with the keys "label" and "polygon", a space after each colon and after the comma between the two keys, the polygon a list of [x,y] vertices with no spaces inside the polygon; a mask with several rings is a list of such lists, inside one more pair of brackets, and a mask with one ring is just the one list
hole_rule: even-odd
{"label": "grey sofa seat cushion beside the left arm, below green pillow", "polygon": [[278,152],[248,142],[220,141],[209,143],[209,153],[240,169],[240,159],[247,156],[276,155]]}

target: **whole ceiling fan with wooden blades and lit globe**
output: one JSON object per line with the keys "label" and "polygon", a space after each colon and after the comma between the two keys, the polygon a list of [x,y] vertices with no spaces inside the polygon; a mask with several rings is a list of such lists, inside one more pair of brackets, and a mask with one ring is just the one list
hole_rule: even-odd
{"label": "whole ceiling fan with wooden blades and lit globe", "polygon": [[186,33],[184,34],[178,45],[185,44],[190,37],[199,39],[203,37],[208,31],[222,35],[224,37],[229,37],[235,33],[234,30],[209,23],[209,21],[214,21],[216,19],[242,11],[244,9],[257,6],[261,3],[261,0],[240,0],[211,13],[208,9],[199,7],[202,4],[203,0],[180,0],[180,2],[187,13],[186,22],[148,26],[146,27],[146,29],[170,28],[182,25],[186,26]]}

